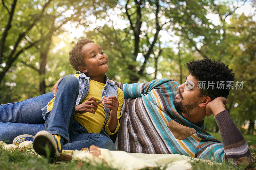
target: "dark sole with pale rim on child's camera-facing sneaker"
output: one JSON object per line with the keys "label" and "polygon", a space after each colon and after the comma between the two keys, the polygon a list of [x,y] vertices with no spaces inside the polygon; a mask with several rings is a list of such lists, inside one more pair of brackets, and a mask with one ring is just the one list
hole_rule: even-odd
{"label": "dark sole with pale rim on child's camera-facing sneaker", "polygon": [[41,130],[36,133],[33,140],[33,148],[39,155],[47,156],[47,152],[50,152],[50,157],[60,155],[55,139],[52,137],[52,134],[46,130]]}

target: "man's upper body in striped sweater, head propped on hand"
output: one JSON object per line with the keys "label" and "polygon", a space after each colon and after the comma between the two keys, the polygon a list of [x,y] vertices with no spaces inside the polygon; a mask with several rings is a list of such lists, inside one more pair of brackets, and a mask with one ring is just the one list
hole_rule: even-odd
{"label": "man's upper body in striped sweater, head propped on hand", "polygon": [[[248,145],[225,107],[234,83],[232,69],[209,59],[190,61],[187,67],[190,74],[182,85],[170,79],[113,82],[123,90],[126,106],[116,150],[181,154],[233,165],[241,158],[239,162],[252,165]],[[204,130],[204,118],[210,115],[214,115],[223,144]]]}

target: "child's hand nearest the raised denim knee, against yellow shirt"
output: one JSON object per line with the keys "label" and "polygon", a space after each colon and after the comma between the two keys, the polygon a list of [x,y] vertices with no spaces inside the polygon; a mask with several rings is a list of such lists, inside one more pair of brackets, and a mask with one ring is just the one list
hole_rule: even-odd
{"label": "child's hand nearest the raised denim knee, against yellow shirt", "polygon": [[75,107],[75,113],[83,114],[86,112],[95,113],[95,111],[91,110],[93,108],[95,111],[97,110],[97,102],[94,97],[90,97],[88,100],[86,100],[84,103],[80,105],[76,105]]}

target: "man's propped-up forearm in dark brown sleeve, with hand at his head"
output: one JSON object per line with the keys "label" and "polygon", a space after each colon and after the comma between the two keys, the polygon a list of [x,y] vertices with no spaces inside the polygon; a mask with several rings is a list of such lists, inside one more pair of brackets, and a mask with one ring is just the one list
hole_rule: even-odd
{"label": "man's propped-up forearm in dark brown sleeve, with hand at his head", "polygon": [[[228,111],[225,108],[227,100],[224,97],[218,97],[212,100],[206,106],[206,115],[212,112],[217,125],[220,129],[221,140],[225,152],[225,159],[230,162],[233,160],[236,165],[239,159],[246,157],[245,161],[252,165],[252,156],[249,147],[236,127],[236,124],[231,119]],[[241,159],[240,159],[241,160]]]}

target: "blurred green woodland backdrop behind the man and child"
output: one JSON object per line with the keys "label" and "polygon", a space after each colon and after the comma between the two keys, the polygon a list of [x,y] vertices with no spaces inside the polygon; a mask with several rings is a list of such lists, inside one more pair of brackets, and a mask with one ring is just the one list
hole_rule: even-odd
{"label": "blurred green woodland backdrop behind the man and child", "polygon": [[[191,59],[229,64],[244,84],[231,90],[227,109],[242,130],[255,133],[255,6],[255,0],[1,0],[0,103],[51,92],[75,72],[68,53],[85,37],[108,55],[108,77],[124,83],[183,83]],[[205,124],[219,130],[213,116]]]}

